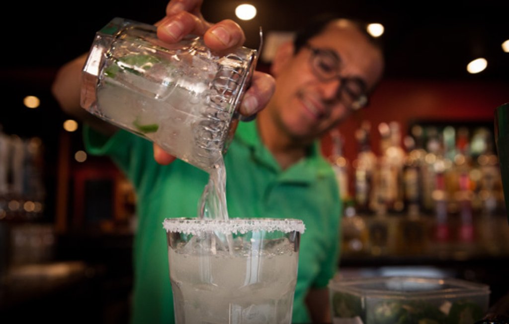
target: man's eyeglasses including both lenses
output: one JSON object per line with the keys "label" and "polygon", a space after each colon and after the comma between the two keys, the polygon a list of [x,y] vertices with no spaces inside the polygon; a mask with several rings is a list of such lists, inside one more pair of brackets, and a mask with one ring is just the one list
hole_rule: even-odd
{"label": "man's eyeglasses including both lenses", "polygon": [[335,51],[315,48],[309,44],[304,47],[312,52],[309,64],[318,79],[323,82],[340,80],[338,99],[352,110],[359,110],[367,105],[366,84],[359,78],[346,78],[340,74],[341,58]]}

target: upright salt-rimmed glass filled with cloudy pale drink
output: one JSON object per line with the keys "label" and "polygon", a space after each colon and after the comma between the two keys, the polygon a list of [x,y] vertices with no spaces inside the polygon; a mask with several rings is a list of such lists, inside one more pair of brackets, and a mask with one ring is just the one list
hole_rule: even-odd
{"label": "upright salt-rimmed glass filled with cloudy pale drink", "polygon": [[292,322],[298,219],[167,218],[177,324]]}

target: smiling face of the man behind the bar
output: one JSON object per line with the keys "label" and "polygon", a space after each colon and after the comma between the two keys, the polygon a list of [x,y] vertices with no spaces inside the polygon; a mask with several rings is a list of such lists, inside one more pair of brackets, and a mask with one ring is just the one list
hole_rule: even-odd
{"label": "smiling face of the man behind the bar", "polygon": [[269,113],[294,140],[313,141],[351,113],[352,98],[372,89],[382,70],[382,54],[364,35],[332,23],[274,71]]}

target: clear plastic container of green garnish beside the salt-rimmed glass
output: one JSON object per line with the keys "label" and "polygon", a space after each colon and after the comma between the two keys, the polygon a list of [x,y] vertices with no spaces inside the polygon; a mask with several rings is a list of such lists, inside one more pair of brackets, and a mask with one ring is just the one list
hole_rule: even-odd
{"label": "clear plastic container of green garnish beside the salt-rimmed glass", "polygon": [[463,324],[488,311],[488,285],[392,276],[329,282],[333,324]]}

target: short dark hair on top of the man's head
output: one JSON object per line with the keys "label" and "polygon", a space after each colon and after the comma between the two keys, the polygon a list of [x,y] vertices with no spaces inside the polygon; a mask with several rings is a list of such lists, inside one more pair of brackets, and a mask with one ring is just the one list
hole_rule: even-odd
{"label": "short dark hair on top of the man's head", "polygon": [[366,39],[383,53],[383,45],[380,40],[367,33],[366,27],[369,24],[368,22],[357,18],[338,17],[330,13],[315,16],[305,26],[297,30],[293,41],[295,53],[305,46],[309,39],[320,34],[331,21],[336,19],[346,19],[353,23],[353,25],[366,37]]}

